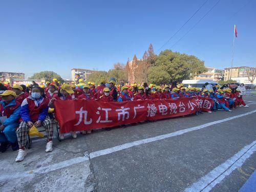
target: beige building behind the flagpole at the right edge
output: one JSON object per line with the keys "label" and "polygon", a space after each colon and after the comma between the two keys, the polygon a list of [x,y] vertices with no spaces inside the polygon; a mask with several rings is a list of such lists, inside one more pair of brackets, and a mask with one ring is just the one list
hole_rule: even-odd
{"label": "beige building behind the flagpole at the right edge", "polygon": [[[246,77],[248,79],[247,72],[249,77],[252,77],[253,73],[256,73],[256,68],[253,67],[233,67],[233,68],[225,68],[224,80],[229,80],[233,78]],[[233,79],[234,80],[234,79]]]}

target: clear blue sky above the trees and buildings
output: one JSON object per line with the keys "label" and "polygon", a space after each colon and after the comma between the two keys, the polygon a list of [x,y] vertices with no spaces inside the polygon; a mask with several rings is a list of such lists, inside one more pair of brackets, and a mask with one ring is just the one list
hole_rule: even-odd
{"label": "clear blue sky above the trees and buildings", "polygon": [[[170,49],[217,1],[208,0],[161,50]],[[1,1],[0,71],[29,76],[51,70],[69,78],[72,68],[109,70],[134,54],[142,57],[150,43],[157,52],[204,2]],[[253,0],[221,0],[172,50],[196,55],[208,67],[230,67],[236,24],[234,66],[256,67],[255,8]]]}

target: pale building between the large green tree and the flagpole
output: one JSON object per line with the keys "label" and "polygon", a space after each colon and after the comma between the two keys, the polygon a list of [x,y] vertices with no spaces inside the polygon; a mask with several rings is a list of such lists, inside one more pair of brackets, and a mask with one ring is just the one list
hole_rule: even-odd
{"label": "pale building between the large green tree and the flagpole", "polygon": [[194,79],[209,79],[214,81],[219,81],[223,79],[224,70],[215,69],[211,67],[205,67],[205,68],[207,69],[207,71],[194,77]]}

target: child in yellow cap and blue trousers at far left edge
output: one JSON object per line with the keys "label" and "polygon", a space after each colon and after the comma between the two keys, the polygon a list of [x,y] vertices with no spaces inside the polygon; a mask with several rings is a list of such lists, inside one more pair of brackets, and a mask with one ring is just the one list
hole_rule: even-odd
{"label": "child in yellow cap and blue trousers at far left edge", "polygon": [[17,136],[15,133],[18,127],[18,119],[20,118],[20,103],[15,100],[16,93],[14,91],[4,91],[0,94],[0,152],[4,153],[8,145],[11,144],[12,150],[18,150]]}

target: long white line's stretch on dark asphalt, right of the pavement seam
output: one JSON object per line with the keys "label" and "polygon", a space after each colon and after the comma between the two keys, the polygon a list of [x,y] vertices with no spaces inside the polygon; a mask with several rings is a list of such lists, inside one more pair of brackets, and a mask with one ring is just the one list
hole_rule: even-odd
{"label": "long white line's stretch on dark asphalt, right of the pavement seam", "polygon": [[199,126],[190,127],[188,129],[180,130],[180,131],[177,131],[177,132],[168,133],[168,134],[164,134],[164,135],[159,135],[159,136],[156,136],[156,137],[151,137],[151,138],[147,138],[147,139],[142,139],[142,140],[133,141],[133,142],[130,142],[130,143],[124,143],[124,144],[117,145],[117,146],[114,146],[114,147],[106,148],[105,150],[100,150],[100,151],[97,151],[97,152],[90,153],[90,158],[93,159],[95,157],[99,157],[99,156],[102,156],[102,155],[107,155],[107,154],[111,154],[111,153],[114,153],[114,152],[118,152],[118,151],[124,150],[126,148],[130,148],[130,147],[133,147],[133,146],[137,146],[137,145],[141,145],[141,144],[145,144],[145,143],[150,143],[150,142],[154,142],[154,141],[158,141],[158,140],[162,140],[162,139],[182,135],[184,133],[188,133],[188,132],[191,132],[191,131],[201,130],[205,127],[208,127],[208,126],[211,126],[211,125],[214,125],[214,124],[218,124],[218,123],[222,123],[222,122],[226,122],[226,121],[236,119],[236,118],[239,118],[239,117],[243,117],[243,116],[246,116],[246,115],[250,115],[250,114],[255,113],[255,112],[256,112],[256,110],[253,110],[253,111],[245,113],[245,114],[229,117],[229,118],[226,118],[226,119],[221,119],[221,120],[218,120],[218,121],[205,123],[205,124],[202,124],[202,125],[199,125]]}

